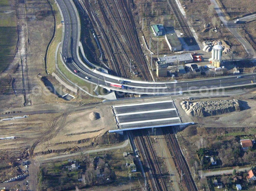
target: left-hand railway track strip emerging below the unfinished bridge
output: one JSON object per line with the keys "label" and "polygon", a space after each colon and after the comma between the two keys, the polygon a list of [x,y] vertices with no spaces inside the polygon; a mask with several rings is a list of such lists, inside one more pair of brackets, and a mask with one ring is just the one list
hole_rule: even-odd
{"label": "left-hand railway track strip emerging below the unfinished bridge", "polygon": [[161,168],[159,167],[157,158],[154,154],[153,147],[145,131],[133,131],[133,136],[135,138],[135,143],[140,150],[140,157],[143,162],[145,173],[149,178],[148,182],[150,188],[155,191],[167,191],[166,184],[162,177]]}

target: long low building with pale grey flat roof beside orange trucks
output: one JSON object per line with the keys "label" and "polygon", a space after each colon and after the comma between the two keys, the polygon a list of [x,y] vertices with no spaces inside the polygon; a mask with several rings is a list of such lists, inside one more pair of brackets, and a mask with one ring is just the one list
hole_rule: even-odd
{"label": "long low building with pale grey flat roof beside orange trucks", "polygon": [[190,53],[187,54],[178,54],[173,56],[165,56],[165,57],[159,57],[158,61],[164,61],[166,60],[168,66],[173,66],[176,64],[177,61],[179,61],[179,64],[186,64],[193,62],[193,57]]}

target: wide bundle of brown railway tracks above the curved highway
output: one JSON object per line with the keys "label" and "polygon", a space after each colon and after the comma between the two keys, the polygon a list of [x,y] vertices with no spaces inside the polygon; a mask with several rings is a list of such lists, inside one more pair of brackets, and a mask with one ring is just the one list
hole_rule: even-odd
{"label": "wide bundle of brown railway tracks above the curved highway", "polygon": [[[109,3],[111,3],[113,8],[110,8]],[[127,78],[124,60],[126,61],[126,67],[129,68],[130,59],[132,59],[138,65],[138,68],[133,68],[132,70],[134,72],[141,73],[145,80],[149,80],[151,76],[138,40],[135,22],[131,11],[131,1],[127,3],[120,0],[98,0],[100,11],[99,15],[103,16],[104,23],[106,24],[105,28],[102,26],[100,19],[91,4],[85,0],[82,0],[81,4],[87,11],[89,18],[92,20],[97,34],[102,38],[100,40],[102,41],[104,49],[106,49],[108,58],[111,59],[111,65],[115,73]],[[107,15],[110,15],[110,18],[113,21],[112,23]],[[117,35],[117,31],[120,32],[121,37]],[[106,33],[109,34],[107,35]],[[123,40],[123,44],[120,39]],[[129,53],[127,53],[124,46],[127,46],[127,50],[130,51],[131,56],[128,56]],[[119,50],[121,50],[123,57],[121,57]],[[113,60],[113,58],[115,58],[115,60]]]}

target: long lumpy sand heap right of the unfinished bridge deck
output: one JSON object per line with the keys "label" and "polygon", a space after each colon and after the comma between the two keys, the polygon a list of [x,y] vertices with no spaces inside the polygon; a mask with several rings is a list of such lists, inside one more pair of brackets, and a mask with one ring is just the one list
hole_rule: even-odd
{"label": "long lumpy sand heap right of the unfinished bridge deck", "polygon": [[188,116],[206,117],[240,111],[237,99],[218,101],[182,101],[180,103]]}

